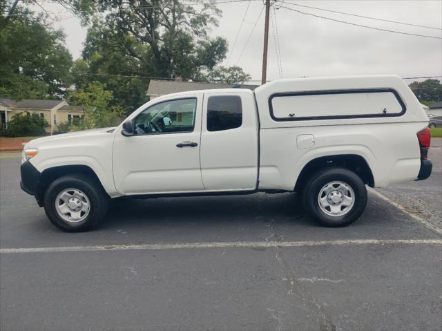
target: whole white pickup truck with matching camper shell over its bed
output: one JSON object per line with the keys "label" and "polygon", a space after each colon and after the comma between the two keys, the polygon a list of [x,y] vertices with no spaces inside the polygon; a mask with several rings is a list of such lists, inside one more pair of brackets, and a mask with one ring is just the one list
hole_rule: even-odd
{"label": "whole white pickup truck with matching camper shell over its bed", "polygon": [[97,225],[111,198],[257,191],[300,191],[311,216],[340,227],[363,213],[365,185],[430,176],[427,124],[394,75],[175,93],[117,128],[28,142],[21,188],[66,231]]}

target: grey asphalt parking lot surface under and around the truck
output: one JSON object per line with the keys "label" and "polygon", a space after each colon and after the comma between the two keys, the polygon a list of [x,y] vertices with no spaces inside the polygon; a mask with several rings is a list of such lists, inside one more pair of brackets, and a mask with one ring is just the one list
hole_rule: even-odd
{"label": "grey asphalt parking lot surface under and around the truck", "polygon": [[66,234],[0,156],[0,329],[441,330],[433,144],[429,180],[370,193],[341,229],[293,193],[257,193],[120,200],[99,229]]}

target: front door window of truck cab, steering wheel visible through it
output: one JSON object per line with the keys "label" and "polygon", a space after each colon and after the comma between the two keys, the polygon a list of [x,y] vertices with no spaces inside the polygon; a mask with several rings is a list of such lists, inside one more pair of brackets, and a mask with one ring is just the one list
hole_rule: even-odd
{"label": "front door window of truck cab, steering wheel visible through it", "polygon": [[135,118],[135,134],[192,132],[196,101],[193,97],[154,104]]}

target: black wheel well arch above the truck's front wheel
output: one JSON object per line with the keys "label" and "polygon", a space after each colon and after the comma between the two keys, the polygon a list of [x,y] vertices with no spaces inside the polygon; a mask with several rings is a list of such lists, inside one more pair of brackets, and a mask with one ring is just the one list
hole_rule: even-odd
{"label": "black wheel well arch above the truck's front wheel", "polygon": [[67,165],[67,166],[52,167],[44,170],[41,173],[36,193],[36,198],[37,202],[39,203],[39,206],[42,207],[44,205],[44,193],[46,192],[46,189],[48,188],[51,182],[53,182],[57,178],[60,178],[61,176],[73,175],[73,174],[80,174],[82,176],[87,176],[88,178],[90,178],[90,180],[94,180],[95,182],[97,182],[97,184],[100,187],[102,187],[103,191],[106,192],[104,190],[102,183],[99,181],[97,174],[93,171],[93,169],[91,169],[86,165]]}

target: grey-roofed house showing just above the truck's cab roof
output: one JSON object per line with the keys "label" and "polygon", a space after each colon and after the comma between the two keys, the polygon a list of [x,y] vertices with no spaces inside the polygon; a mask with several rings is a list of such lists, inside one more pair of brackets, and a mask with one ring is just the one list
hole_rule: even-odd
{"label": "grey-roofed house showing just above the truck's cab roof", "polygon": [[150,97],[150,100],[153,100],[155,97],[160,97],[161,95],[184,91],[210,90],[213,88],[249,88],[249,90],[254,90],[258,86],[259,85],[183,82],[180,77],[177,77],[174,81],[151,79],[147,96]]}

